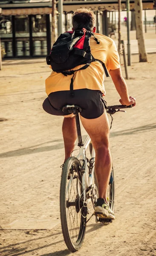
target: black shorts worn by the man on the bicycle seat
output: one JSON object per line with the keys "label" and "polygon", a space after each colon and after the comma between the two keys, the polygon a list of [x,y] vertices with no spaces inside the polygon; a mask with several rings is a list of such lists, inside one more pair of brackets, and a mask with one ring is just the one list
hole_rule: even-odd
{"label": "black shorts worn by the man on the bicycle seat", "polygon": [[74,96],[71,97],[69,91],[59,91],[50,93],[43,102],[43,109],[55,116],[67,116],[62,111],[64,105],[78,105],[82,108],[81,116],[87,119],[98,118],[104,113],[107,103],[102,98],[99,90],[79,89],[74,90]]}

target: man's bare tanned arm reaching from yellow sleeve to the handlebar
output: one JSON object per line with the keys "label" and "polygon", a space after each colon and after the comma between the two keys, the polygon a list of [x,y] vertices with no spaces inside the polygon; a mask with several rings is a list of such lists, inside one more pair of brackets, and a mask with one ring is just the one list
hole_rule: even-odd
{"label": "man's bare tanned arm reaching from yellow sleeve to the handlebar", "polygon": [[113,80],[113,83],[115,84],[116,90],[121,97],[119,102],[122,105],[135,106],[136,99],[131,96],[129,97],[128,95],[127,85],[126,85],[126,82],[124,81],[124,78],[122,77],[121,68],[118,68],[116,70],[110,70],[109,73]]}

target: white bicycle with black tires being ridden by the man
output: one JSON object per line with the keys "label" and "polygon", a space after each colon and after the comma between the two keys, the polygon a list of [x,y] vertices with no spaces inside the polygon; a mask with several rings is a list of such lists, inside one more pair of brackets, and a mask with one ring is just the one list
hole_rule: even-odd
{"label": "white bicycle with black tires being ridden by the man", "polygon": [[[131,107],[133,107],[133,105],[108,106],[106,111],[112,117],[112,114],[122,111],[120,109]],[[81,107],[77,105],[65,105],[62,110],[64,113],[74,113],[78,134],[79,154],[77,157],[74,157],[72,152],[72,156],[64,163],[60,189],[61,226],[64,241],[68,249],[71,252],[75,252],[80,249],[84,241],[86,224],[92,217],[91,216],[87,220],[87,214],[89,213],[88,204],[92,202],[93,208],[95,208],[95,203],[98,198],[98,184],[96,176],[94,175],[95,150],[92,146],[89,135],[84,143],[82,141],[79,120]],[[113,117],[110,128],[112,126],[112,122]],[[90,160],[86,157],[88,145],[90,148]],[[95,182],[93,182],[93,178]],[[110,209],[114,211],[115,180],[113,163],[107,195],[109,198]],[[97,216],[95,217],[95,221],[104,222],[103,219]]]}

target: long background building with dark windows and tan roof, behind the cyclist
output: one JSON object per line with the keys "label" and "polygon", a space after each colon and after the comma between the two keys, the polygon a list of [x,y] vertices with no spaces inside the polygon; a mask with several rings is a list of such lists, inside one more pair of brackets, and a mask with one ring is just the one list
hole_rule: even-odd
{"label": "long background building with dark windows and tan roof, behind the cyclist", "polygon": [[[122,10],[126,0],[121,1]],[[118,9],[118,0],[64,0],[64,29],[71,27],[69,13],[81,6],[96,12],[98,31],[107,35],[107,12]],[[0,38],[6,58],[46,56],[51,49],[52,0],[0,0]],[[153,0],[143,0],[153,9]],[[134,9],[134,0],[130,0]],[[103,27],[102,25],[103,24]],[[101,27],[100,27],[101,26]],[[99,31],[99,32],[100,32]]]}

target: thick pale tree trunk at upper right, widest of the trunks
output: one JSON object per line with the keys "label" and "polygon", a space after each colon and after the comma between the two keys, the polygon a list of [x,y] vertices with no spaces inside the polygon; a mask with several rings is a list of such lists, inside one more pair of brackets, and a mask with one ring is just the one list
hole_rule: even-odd
{"label": "thick pale tree trunk at upper right, widest of the trunks", "polygon": [[139,62],[147,62],[147,54],[144,46],[144,33],[142,22],[142,0],[134,0],[136,12],[136,32],[139,48]]}

